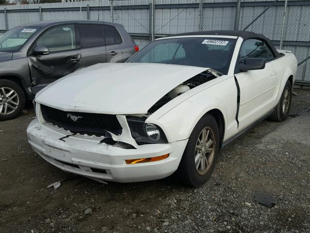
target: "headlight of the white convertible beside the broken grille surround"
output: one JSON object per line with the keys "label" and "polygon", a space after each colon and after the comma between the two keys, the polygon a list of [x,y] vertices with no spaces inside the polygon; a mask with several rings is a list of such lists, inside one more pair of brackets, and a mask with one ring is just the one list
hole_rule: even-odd
{"label": "headlight of the white convertible beside the broken grille surround", "polygon": [[132,137],[138,145],[152,143],[168,143],[163,130],[151,123],[145,123],[146,117],[127,116]]}

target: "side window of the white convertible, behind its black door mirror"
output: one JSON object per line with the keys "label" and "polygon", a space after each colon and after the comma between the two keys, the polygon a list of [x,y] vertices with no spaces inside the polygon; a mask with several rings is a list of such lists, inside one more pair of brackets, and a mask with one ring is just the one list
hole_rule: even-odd
{"label": "side window of the white convertible, behind its black door mirror", "polygon": [[263,58],[266,62],[275,58],[266,42],[257,39],[246,40],[240,49],[240,63],[245,58]]}

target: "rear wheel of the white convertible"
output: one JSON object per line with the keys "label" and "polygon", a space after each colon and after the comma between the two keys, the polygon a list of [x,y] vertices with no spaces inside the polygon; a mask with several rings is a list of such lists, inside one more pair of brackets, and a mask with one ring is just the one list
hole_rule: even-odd
{"label": "rear wheel of the white convertible", "polygon": [[269,116],[270,120],[283,121],[287,118],[291,108],[292,101],[292,84],[288,80],[284,86],[279,103],[275,107],[275,111]]}

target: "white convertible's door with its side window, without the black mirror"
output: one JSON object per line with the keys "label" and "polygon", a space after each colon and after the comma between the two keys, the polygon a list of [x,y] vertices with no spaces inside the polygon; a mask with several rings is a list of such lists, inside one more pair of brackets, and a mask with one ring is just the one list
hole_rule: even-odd
{"label": "white convertible's door with its side window, without the black mirror", "polygon": [[[264,69],[240,72],[238,65],[245,58],[263,58]],[[240,87],[238,113],[239,130],[242,130],[267,114],[274,106],[272,101],[279,79],[270,63],[275,58],[267,43],[258,39],[246,40],[240,49],[235,77]]]}

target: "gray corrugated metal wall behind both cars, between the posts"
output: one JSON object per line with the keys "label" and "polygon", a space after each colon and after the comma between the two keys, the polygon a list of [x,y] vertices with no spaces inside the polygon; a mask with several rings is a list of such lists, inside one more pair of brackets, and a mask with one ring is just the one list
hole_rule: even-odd
{"label": "gray corrugated metal wall behind both cars, between the posts", "polygon": [[[236,0],[154,0],[154,34],[184,33],[199,30],[233,30],[236,15]],[[262,17],[247,30],[262,33],[279,47],[284,12],[284,0],[270,7]],[[152,0],[113,0],[114,22],[124,25],[135,42],[143,47],[149,42],[152,32],[150,3]],[[239,30],[257,17],[272,0],[242,0]],[[17,25],[39,21],[39,7],[42,19],[89,19],[111,21],[110,1],[82,1],[65,3],[0,6],[0,32],[6,29],[4,8],[7,9],[8,29]],[[68,10],[66,9],[68,8]],[[150,28],[151,27],[151,28]],[[310,56],[310,0],[289,0],[282,49],[292,50],[303,61]],[[302,73],[305,75],[302,75]],[[298,67],[299,80],[310,81],[310,61]]]}

